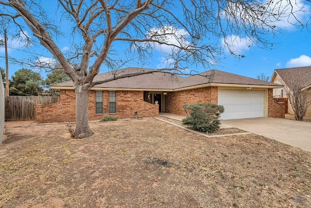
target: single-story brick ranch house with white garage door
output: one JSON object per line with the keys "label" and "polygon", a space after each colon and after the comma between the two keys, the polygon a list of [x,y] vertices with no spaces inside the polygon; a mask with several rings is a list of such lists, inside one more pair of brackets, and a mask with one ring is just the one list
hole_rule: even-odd
{"label": "single-story brick ranch house with white garage door", "polygon": [[[126,68],[115,74],[152,70]],[[155,70],[153,70],[155,71]],[[111,77],[111,72],[96,79]],[[153,117],[159,112],[186,115],[183,104],[216,103],[225,107],[221,119],[284,117],[284,104],[273,100],[279,84],[210,70],[195,76],[177,76],[153,72],[95,85],[89,93],[89,120],[104,116],[119,119]],[[51,86],[60,90],[60,102],[36,105],[36,122],[75,121],[75,92],[71,81]]]}

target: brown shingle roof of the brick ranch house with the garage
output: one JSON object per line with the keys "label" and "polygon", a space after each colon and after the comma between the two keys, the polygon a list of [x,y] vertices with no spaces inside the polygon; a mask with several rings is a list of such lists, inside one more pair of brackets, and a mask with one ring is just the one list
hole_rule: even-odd
{"label": "brown shingle roof of the brick ranch house with the garage", "polygon": [[[152,69],[141,69],[141,68],[126,68],[114,72],[116,75],[120,74],[131,74],[139,72],[140,70],[150,71]],[[209,70],[194,76],[177,76],[167,73],[156,72],[151,74],[144,74],[133,77],[121,78],[102,84],[95,85],[94,87],[100,88],[127,88],[127,89],[163,89],[163,90],[174,90],[184,87],[191,87],[201,84],[208,83],[223,83],[223,84],[246,84],[246,85],[261,85],[261,86],[279,86],[278,84],[266,82],[246,76],[235,75],[218,70]],[[112,77],[113,73],[108,72],[95,76],[94,80],[105,79]],[[55,84],[52,86],[60,87],[72,87],[72,81]]]}

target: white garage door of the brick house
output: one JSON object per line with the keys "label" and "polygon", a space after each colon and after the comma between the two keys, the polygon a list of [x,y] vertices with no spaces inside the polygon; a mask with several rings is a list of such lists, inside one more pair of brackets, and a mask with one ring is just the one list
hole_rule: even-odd
{"label": "white garage door of the brick house", "polygon": [[264,91],[219,89],[218,105],[225,107],[223,120],[264,117]]}

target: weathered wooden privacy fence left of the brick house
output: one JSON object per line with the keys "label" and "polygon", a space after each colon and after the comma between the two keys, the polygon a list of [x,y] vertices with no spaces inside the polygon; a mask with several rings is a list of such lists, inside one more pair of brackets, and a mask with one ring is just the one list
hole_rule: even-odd
{"label": "weathered wooden privacy fence left of the brick house", "polygon": [[5,96],[5,120],[35,120],[35,105],[59,102],[59,96]]}

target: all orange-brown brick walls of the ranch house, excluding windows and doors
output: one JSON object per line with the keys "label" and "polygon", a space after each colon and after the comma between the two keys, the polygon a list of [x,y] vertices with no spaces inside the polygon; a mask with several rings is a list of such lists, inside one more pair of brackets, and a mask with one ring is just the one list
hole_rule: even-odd
{"label": "all orange-brown brick walls of the ranch house, excluding windows and doors", "polygon": [[[89,120],[100,120],[104,116],[120,119],[136,116],[158,116],[159,106],[143,101],[143,91],[116,91],[116,113],[109,112],[109,93],[103,91],[103,113],[95,113],[95,91],[90,91],[88,103]],[[186,115],[183,104],[218,103],[218,88],[205,87],[199,89],[170,92],[165,95],[165,112]],[[75,121],[75,93],[73,90],[61,90],[60,102],[48,106],[36,105],[36,122]],[[135,114],[138,112],[138,115]],[[273,89],[268,90],[268,117],[285,117],[284,103],[273,100]]]}

